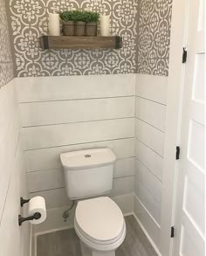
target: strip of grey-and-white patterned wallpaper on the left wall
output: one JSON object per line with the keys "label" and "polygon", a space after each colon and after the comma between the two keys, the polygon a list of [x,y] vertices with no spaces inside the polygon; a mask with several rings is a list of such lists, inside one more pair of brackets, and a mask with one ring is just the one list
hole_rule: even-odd
{"label": "strip of grey-and-white patterned wallpaper on the left wall", "polygon": [[0,0],[0,87],[13,79],[10,37],[4,0]]}

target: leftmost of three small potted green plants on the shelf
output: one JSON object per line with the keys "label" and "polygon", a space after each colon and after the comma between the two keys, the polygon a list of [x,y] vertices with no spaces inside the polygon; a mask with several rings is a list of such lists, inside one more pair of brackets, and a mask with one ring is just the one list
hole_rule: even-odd
{"label": "leftmost of three small potted green plants on the shelf", "polygon": [[59,14],[63,24],[62,24],[62,31],[64,36],[74,36],[74,11],[73,10],[66,10]]}

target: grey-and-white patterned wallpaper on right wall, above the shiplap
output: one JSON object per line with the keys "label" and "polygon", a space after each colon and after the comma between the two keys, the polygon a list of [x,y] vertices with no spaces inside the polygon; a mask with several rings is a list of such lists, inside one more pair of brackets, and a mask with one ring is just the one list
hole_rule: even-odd
{"label": "grey-and-white patterned wallpaper on right wall, above the shiplap", "polygon": [[172,0],[140,0],[137,73],[168,76]]}

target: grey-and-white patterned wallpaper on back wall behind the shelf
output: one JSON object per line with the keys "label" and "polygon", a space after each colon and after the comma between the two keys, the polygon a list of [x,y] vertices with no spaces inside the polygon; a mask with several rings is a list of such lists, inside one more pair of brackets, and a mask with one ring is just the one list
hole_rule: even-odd
{"label": "grey-and-white patterned wallpaper on back wall behind the shelf", "polygon": [[[135,73],[138,0],[8,0],[17,76]],[[111,33],[123,38],[120,50],[46,50],[48,13],[96,10],[112,17]]]}

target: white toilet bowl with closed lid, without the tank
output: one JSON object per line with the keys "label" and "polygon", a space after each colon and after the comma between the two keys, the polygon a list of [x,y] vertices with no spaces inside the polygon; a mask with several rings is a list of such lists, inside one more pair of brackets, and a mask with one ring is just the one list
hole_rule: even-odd
{"label": "white toilet bowl with closed lid, without the tank", "polygon": [[114,256],[126,236],[126,224],[117,204],[109,197],[80,201],[74,218],[82,256]]}

